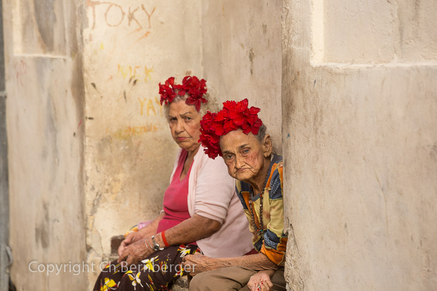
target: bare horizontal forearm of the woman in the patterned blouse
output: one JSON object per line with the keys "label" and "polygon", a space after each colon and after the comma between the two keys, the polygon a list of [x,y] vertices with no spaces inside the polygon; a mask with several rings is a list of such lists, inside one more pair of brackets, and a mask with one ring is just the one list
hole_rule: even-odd
{"label": "bare horizontal forearm of the woman in the patterned blouse", "polygon": [[278,265],[273,263],[262,253],[236,258],[219,258],[216,260],[219,265],[218,268],[240,266],[254,271],[279,269]]}

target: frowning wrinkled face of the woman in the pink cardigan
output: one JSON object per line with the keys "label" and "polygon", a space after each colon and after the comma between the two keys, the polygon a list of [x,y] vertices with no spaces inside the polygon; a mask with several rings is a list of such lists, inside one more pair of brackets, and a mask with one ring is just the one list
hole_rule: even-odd
{"label": "frowning wrinkled face of the woman in the pink cardigan", "polygon": [[168,117],[171,135],[180,147],[192,151],[200,146],[201,116],[193,105],[185,104],[185,100],[171,102]]}

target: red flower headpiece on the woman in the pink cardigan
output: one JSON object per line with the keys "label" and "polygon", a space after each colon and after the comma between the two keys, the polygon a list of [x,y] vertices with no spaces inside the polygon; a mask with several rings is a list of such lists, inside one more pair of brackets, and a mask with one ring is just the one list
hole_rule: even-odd
{"label": "red flower headpiece on the woman in the pink cardigan", "polygon": [[196,76],[186,76],[182,80],[182,84],[175,84],[174,77],[168,78],[165,84],[159,83],[159,95],[161,95],[162,103],[169,104],[174,98],[179,96],[188,95],[185,103],[188,105],[194,105],[197,112],[200,111],[202,103],[208,103],[208,100],[203,97],[206,93],[206,80],[199,80]]}

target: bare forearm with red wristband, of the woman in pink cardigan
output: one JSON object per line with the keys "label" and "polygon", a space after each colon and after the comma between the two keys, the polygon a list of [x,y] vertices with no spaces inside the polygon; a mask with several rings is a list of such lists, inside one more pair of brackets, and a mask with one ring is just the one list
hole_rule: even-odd
{"label": "bare forearm with red wristband, of the woman in pink cardigan", "polygon": [[[186,244],[210,236],[220,226],[218,221],[194,214],[193,217],[166,230],[165,236],[169,245]],[[164,245],[161,236],[157,236],[155,239],[159,245]]]}

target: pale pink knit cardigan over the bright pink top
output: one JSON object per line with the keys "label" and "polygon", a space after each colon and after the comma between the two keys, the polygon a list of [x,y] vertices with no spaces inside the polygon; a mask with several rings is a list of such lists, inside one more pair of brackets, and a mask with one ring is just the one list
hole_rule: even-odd
{"label": "pale pink knit cardigan over the bright pink top", "polygon": [[[179,161],[178,151],[170,181]],[[202,146],[194,156],[188,178],[188,212],[213,219],[221,227],[197,244],[208,257],[238,257],[253,248],[252,234],[240,200],[235,194],[235,180],[228,174],[222,158],[208,158]]]}

